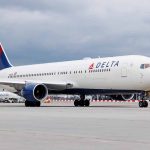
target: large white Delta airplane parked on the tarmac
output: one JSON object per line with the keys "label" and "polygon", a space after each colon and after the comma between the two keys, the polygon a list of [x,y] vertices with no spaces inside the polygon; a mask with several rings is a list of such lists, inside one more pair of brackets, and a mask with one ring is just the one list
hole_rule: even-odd
{"label": "large white Delta airplane parked on the tarmac", "polygon": [[0,84],[21,93],[26,107],[40,107],[48,94],[79,95],[74,106],[83,107],[90,105],[86,95],[134,93],[143,95],[139,107],[148,107],[149,75],[150,58],[141,55],[13,66],[0,44]]}

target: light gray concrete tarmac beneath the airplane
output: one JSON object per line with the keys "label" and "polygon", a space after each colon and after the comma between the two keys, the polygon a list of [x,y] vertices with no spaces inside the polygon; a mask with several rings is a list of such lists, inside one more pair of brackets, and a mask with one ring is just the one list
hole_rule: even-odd
{"label": "light gray concrete tarmac beneath the airplane", "polygon": [[0,150],[148,150],[150,107],[138,103],[0,104]]}

